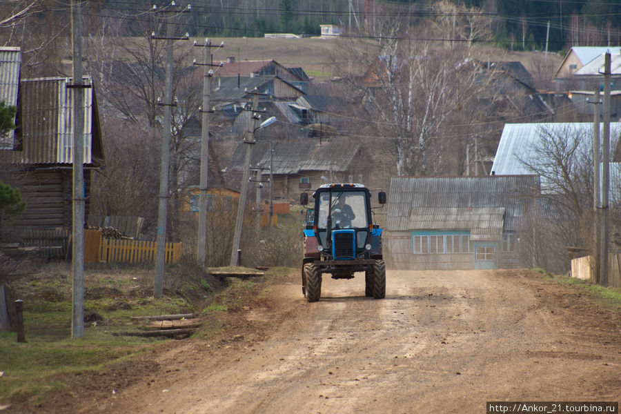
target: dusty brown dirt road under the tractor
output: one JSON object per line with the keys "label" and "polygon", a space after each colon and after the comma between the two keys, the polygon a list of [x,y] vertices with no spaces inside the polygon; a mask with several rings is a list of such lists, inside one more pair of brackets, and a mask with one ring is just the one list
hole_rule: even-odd
{"label": "dusty brown dirt road under the tractor", "polygon": [[[299,276],[210,341],[152,355],[134,384],[84,402],[115,413],[485,413],[486,401],[620,401],[621,317],[528,271]],[[257,302],[258,303],[258,302]],[[147,358],[148,359],[148,358]],[[148,364],[148,361],[145,362]]]}

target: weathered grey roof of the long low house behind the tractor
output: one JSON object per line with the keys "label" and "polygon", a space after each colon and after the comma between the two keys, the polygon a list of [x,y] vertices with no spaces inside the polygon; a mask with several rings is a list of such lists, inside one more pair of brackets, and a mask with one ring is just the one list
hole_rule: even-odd
{"label": "weathered grey roof of the long low house behind the tractor", "polygon": [[[269,141],[257,141],[257,144],[254,145],[253,159],[250,164],[253,167],[269,166]],[[361,146],[361,144],[352,146],[346,142],[334,141],[324,141],[322,145],[319,145],[319,141],[316,139],[274,142],[272,152],[273,174],[297,174],[299,171],[346,171]],[[235,148],[226,170],[241,169],[244,166],[245,155],[246,144],[240,143]]]}

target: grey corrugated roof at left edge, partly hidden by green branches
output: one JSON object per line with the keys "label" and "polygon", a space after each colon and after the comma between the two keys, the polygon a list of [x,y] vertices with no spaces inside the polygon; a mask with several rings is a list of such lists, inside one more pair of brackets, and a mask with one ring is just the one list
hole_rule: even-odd
{"label": "grey corrugated roof at left edge, partly hidden by green branches", "polygon": [[[7,106],[17,106],[19,90],[19,68],[21,66],[20,48],[0,48],[0,101]],[[0,149],[13,149],[14,131],[0,136]]]}

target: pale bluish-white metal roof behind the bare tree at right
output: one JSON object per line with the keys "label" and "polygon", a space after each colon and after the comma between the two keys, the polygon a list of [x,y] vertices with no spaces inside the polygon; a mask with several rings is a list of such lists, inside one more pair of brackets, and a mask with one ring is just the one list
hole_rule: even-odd
{"label": "pale bluish-white metal roof behind the bare tree at right", "polygon": [[[611,140],[619,137],[620,134],[621,123],[611,122]],[[551,135],[578,137],[580,144],[584,145],[584,150],[588,150],[593,141],[593,124],[588,122],[505,124],[491,170],[496,175],[532,174],[533,171],[529,170],[522,161],[531,162],[541,157],[540,154],[533,152],[533,148],[542,139]],[[542,186],[544,186],[543,183]]]}

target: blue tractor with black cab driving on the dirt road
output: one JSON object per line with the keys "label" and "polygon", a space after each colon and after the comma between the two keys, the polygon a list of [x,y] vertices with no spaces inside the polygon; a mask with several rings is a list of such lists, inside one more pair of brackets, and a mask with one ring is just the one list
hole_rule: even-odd
{"label": "blue tractor with black cab driving on the dirt road", "polygon": [[[362,184],[324,184],[313,193],[313,221],[304,229],[302,293],[308,302],[321,297],[322,275],[352,279],[364,272],[367,297],[386,295],[386,265],[382,255],[382,229],[373,223],[371,192]],[[380,191],[377,202],[386,204]],[[308,204],[302,193],[300,204]]]}

